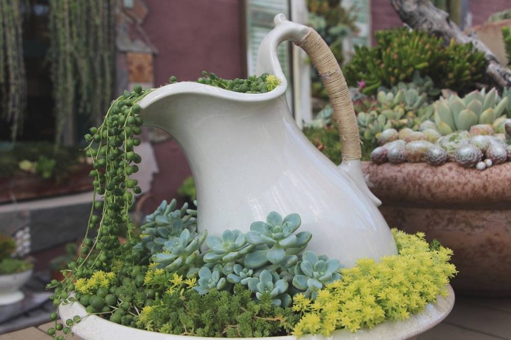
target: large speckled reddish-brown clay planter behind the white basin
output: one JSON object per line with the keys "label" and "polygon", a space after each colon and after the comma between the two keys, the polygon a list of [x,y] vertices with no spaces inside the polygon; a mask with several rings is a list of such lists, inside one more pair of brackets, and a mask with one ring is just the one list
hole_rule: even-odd
{"label": "large speckled reddish-brown clay planter behind the white basin", "polygon": [[362,171],[390,227],[454,250],[456,293],[511,296],[511,163],[479,171],[363,162]]}

